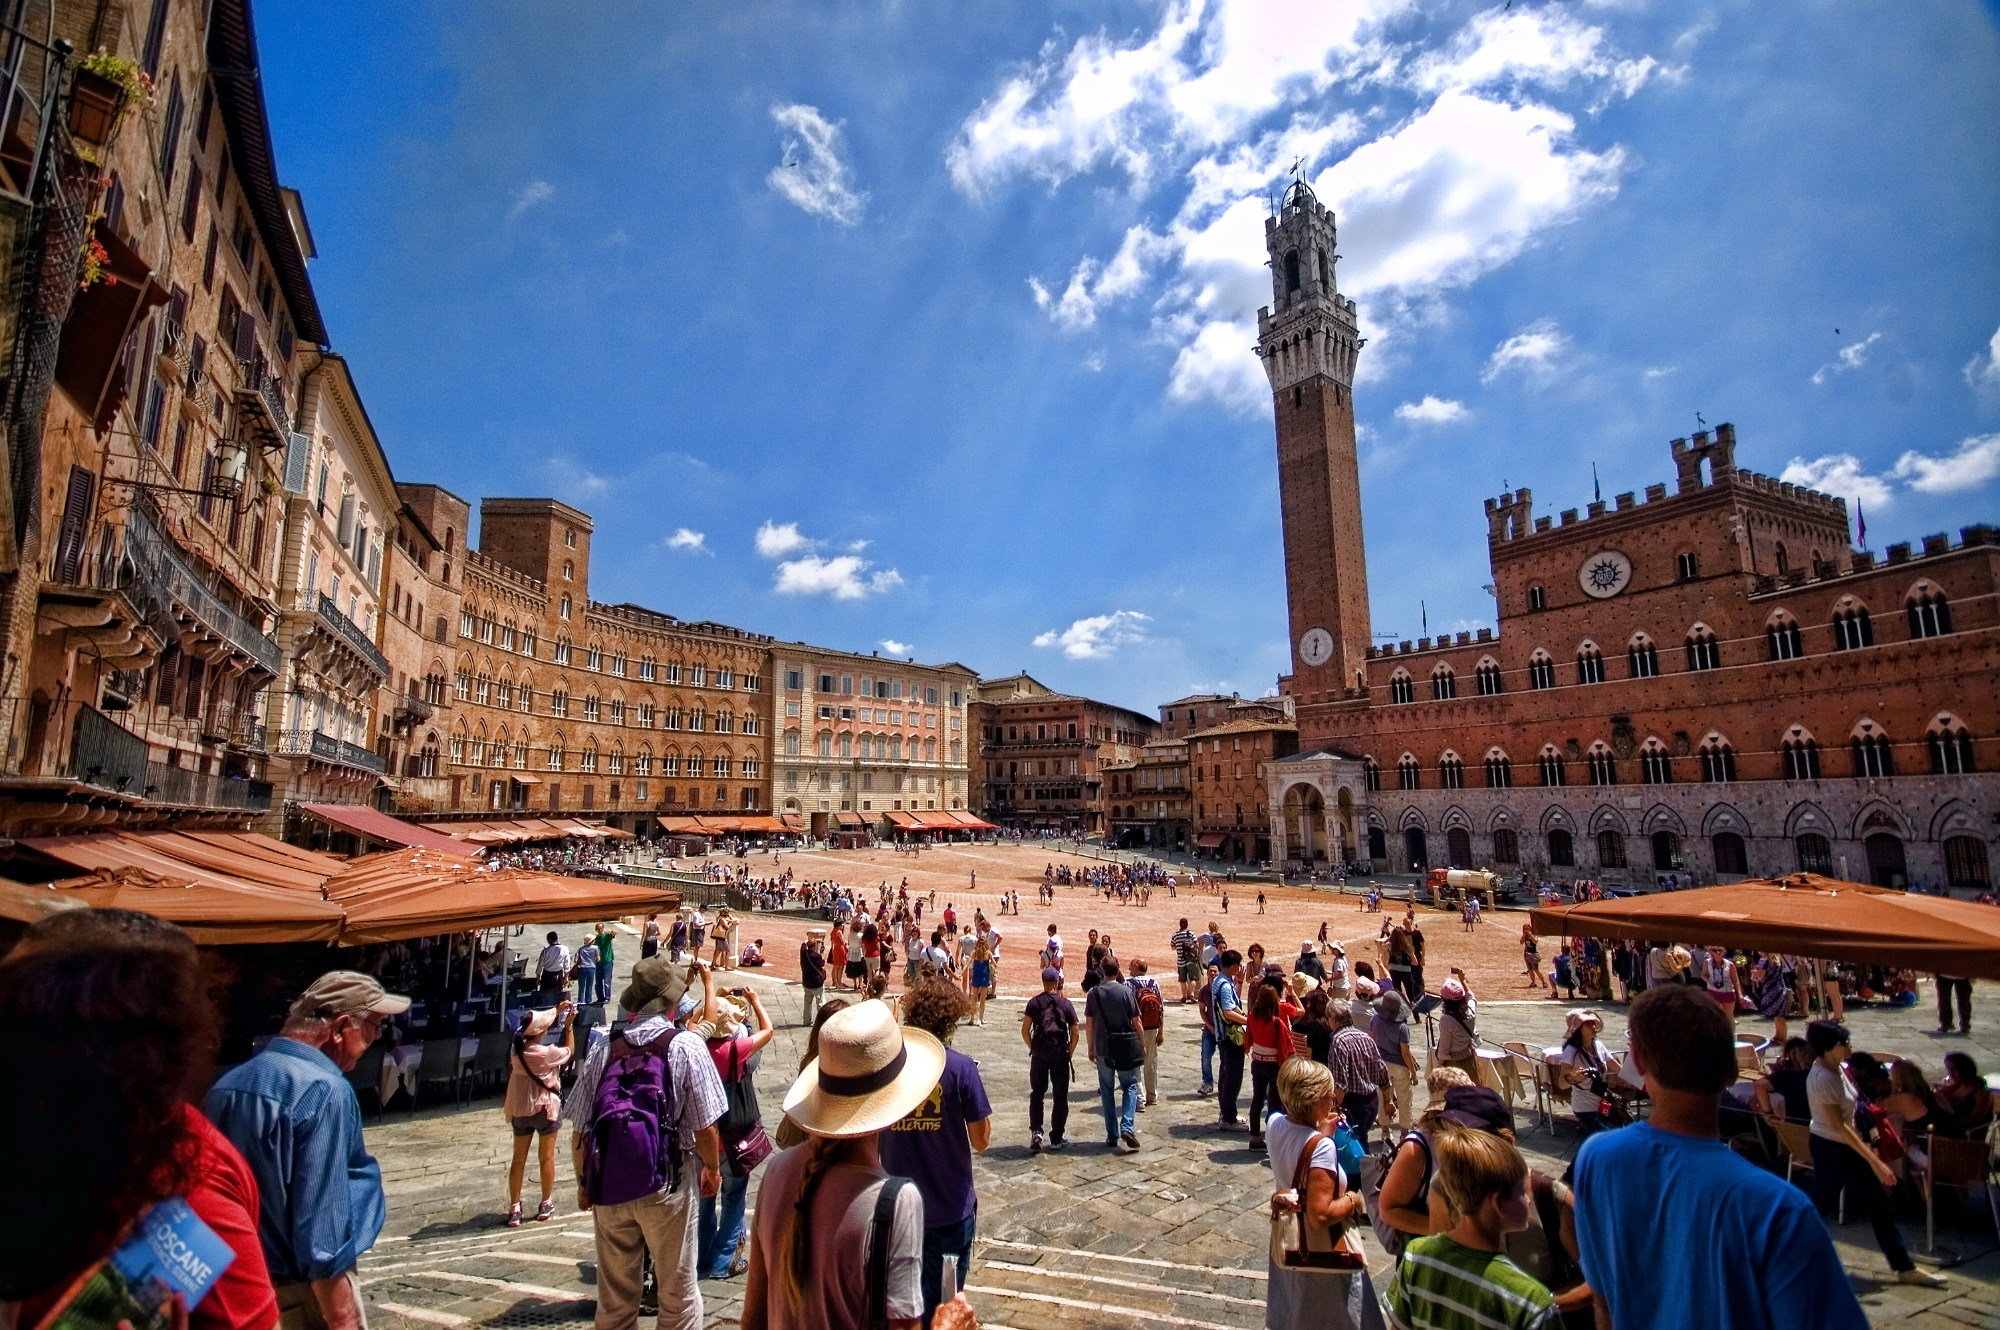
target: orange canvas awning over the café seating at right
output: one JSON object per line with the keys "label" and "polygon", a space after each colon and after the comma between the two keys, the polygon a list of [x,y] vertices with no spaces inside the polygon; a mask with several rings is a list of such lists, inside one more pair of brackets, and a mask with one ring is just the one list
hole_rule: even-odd
{"label": "orange canvas awning over the caf\u00e9 seating at right", "polygon": [[1538,934],[1690,942],[2000,978],[2000,910],[1796,874],[1538,908]]}

